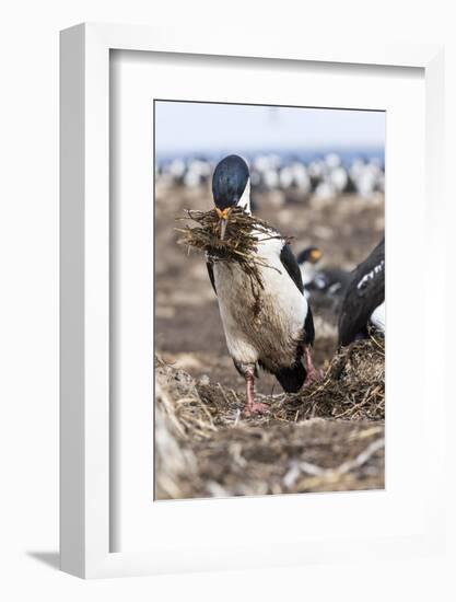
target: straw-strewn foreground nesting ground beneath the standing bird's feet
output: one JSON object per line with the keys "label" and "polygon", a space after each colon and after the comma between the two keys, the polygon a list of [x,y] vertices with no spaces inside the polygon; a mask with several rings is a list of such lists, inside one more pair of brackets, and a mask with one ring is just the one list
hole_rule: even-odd
{"label": "straw-strewn foreground nesting ground beneath the standing bird's feet", "polygon": [[340,349],[319,383],[244,395],[155,362],[156,497],[190,498],[384,487],[384,344]]}

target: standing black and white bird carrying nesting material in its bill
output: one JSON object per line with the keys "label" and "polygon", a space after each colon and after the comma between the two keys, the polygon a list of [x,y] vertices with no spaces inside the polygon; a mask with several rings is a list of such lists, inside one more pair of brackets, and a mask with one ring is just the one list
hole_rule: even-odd
{"label": "standing black and white bird carrying nesting material in its bill", "polygon": [[[221,219],[221,238],[232,208],[241,207],[250,213],[249,180],[246,162],[235,154],[215,167],[212,194]],[[300,267],[287,241],[280,235],[277,238],[278,232],[272,233],[276,238],[258,233],[257,254],[267,264],[259,268],[264,283],[259,309],[249,276],[239,264],[207,257],[227,349],[246,381],[246,415],[262,413],[268,407],[255,401],[258,367],[274,374],[289,393],[318,378],[312,362],[314,321]]]}

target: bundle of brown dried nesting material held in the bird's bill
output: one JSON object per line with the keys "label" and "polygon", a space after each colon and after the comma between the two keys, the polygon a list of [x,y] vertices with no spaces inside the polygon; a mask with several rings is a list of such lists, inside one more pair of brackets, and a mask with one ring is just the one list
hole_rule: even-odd
{"label": "bundle of brown dried nesting material held in the bird's bill", "polygon": [[[177,219],[191,220],[198,225],[176,228],[182,234],[177,241],[179,244],[204,251],[211,262],[239,264],[250,281],[260,289],[264,288],[259,268],[270,266],[257,254],[258,243],[268,239],[282,239],[273,228],[238,207],[229,212],[221,212],[213,208],[210,211],[187,209],[186,213],[187,217]],[[221,234],[221,213],[226,213],[224,235]]]}

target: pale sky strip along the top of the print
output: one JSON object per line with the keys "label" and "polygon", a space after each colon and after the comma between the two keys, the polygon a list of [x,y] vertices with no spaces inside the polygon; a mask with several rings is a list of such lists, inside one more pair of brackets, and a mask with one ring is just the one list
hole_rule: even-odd
{"label": "pale sky strip along the top of the print", "polygon": [[159,157],[384,147],[384,112],[155,102]]}

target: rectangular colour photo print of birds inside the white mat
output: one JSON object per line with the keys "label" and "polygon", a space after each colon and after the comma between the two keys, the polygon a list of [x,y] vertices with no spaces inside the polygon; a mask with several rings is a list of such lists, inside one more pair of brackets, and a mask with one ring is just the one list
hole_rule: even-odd
{"label": "rectangular colour photo print of birds inside the white mat", "polygon": [[383,489],[385,113],[153,124],[154,499]]}

